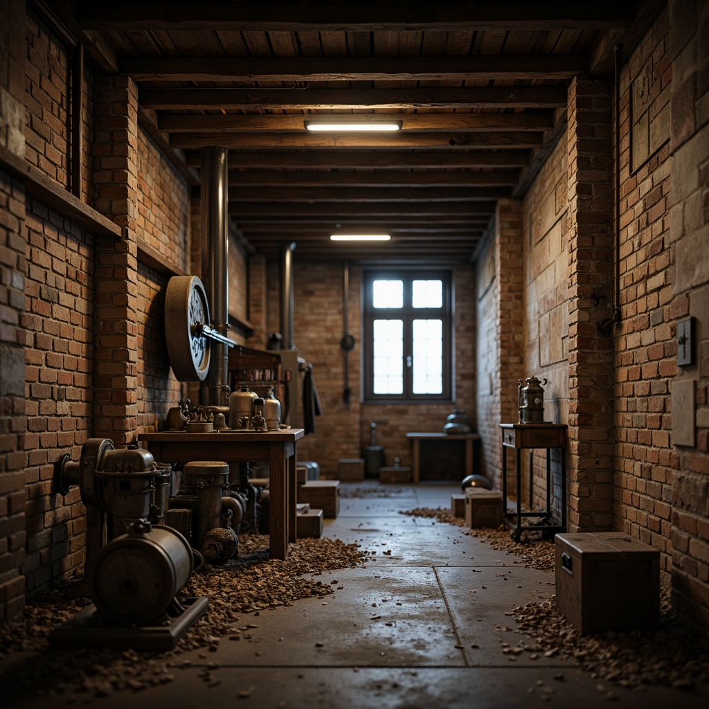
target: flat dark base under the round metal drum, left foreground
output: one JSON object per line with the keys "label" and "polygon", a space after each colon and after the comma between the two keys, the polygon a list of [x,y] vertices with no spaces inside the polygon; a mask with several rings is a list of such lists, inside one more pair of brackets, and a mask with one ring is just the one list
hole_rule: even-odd
{"label": "flat dark base under the round metal drum, left foreground", "polygon": [[113,649],[172,650],[177,641],[207,610],[207,597],[181,598],[182,613],[166,625],[125,627],[106,625],[92,603],[49,635],[52,647],[111,647]]}

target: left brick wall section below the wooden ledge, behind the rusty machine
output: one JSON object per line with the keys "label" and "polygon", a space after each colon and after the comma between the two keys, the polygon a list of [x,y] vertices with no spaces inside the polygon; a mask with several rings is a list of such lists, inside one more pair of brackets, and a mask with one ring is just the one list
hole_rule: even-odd
{"label": "left brick wall section below the wooden ledge, behind the rusty machine", "polygon": [[54,462],[79,458],[91,436],[93,239],[34,201],[26,218],[27,591],[43,591],[83,562],[79,489],[57,495]]}

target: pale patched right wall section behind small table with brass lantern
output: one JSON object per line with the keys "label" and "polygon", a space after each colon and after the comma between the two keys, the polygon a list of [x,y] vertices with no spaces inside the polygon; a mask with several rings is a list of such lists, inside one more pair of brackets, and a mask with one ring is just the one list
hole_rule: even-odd
{"label": "pale patched right wall section behind small table with brass lantern", "polygon": [[[569,219],[565,136],[559,139],[523,203],[525,253],[524,376],[545,390],[545,420],[568,423],[569,414]],[[606,301],[605,304],[607,304]],[[544,383],[547,379],[547,383]],[[552,507],[561,510],[561,462],[552,451]],[[523,500],[529,496],[528,456],[523,455]],[[546,506],[546,452],[534,457],[535,508]]]}

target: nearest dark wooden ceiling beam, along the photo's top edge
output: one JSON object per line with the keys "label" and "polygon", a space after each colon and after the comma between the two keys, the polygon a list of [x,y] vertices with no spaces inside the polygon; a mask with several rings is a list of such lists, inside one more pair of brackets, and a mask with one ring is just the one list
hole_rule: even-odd
{"label": "nearest dark wooden ceiling beam, along the photo's top edge", "polygon": [[608,0],[559,3],[494,0],[435,3],[252,3],[82,1],[77,19],[92,30],[464,31],[627,27],[635,4]]}

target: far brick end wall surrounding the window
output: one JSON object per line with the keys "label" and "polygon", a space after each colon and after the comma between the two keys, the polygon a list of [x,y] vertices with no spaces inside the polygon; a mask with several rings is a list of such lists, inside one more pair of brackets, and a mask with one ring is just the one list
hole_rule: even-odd
{"label": "far brick end wall surrounding the window", "polygon": [[[277,264],[269,264],[269,283],[277,284]],[[345,386],[345,355],[340,346],[343,334],[343,264],[299,262],[294,259],[294,340],[298,352],[313,364],[323,415],[316,420],[316,433],[298,442],[298,458],[315,460],[320,471],[337,475],[337,461],[359,458],[371,440],[371,424],[377,422],[377,445],[384,446],[386,464],[394,457],[411,464],[409,431],[442,431],[453,406],[464,408],[474,420],[475,280],[472,267],[454,269],[456,298],[457,397],[452,404],[386,405],[360,403],[360,358],[362,356],[361,288],[362,271],[350,266],[348,330],[355,346],[349,357],[350,403],[342,396]],[[252,281],[253,284],[253,281]],[[280,329],[279,289],[267,294],[267,332]],[[264,344],[255,345],[264,347]]]}

